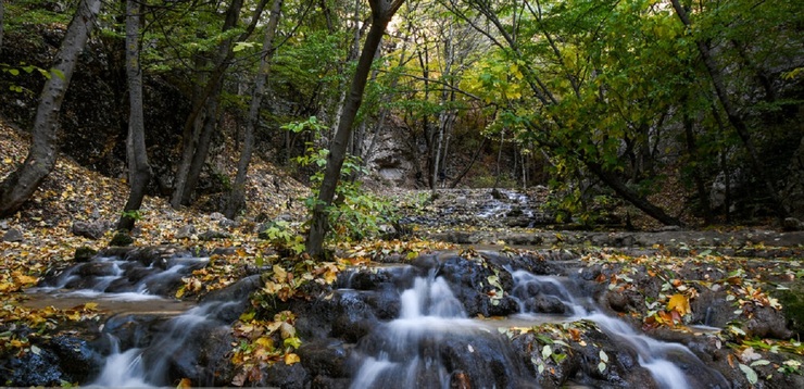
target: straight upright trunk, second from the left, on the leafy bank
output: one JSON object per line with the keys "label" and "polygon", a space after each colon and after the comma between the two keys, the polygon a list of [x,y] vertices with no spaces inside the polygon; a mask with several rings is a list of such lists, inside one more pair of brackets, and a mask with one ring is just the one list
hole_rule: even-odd
{"label": "straight upright trunk, second from the left, on the leafy bank", "polygon": [[117,229],[130,231],[136,217],[130,212],[138,211],[146,196],[146,187],[151,179],[151,166],[148,164],[146,149],[146,126],[142,114],[142,70],[139,65],[139,0],[126,1],[126,73],[128,75],[128,201],[123,206],[123,214],[117,222]]}

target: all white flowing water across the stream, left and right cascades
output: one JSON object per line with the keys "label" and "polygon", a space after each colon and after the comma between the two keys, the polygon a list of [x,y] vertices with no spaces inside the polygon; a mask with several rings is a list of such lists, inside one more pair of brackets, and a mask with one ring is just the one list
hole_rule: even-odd
{"label": "all white flowing water across the stream, left and right cascades", "polygon": [[[100,304],[134,301],[136,305],[155,303],[169,306],[169,299],[154,296],[151,291],[156,289],[158,284],[180,279],[206,261],[172,259],[154,269],[153,264],[137,265],[130,261],[98,259],[53,277],[49,286],[40,287],[35,292],[66,301],[89,297],[102,301]],[[399,274],[399,268],[378,267],[376,271]],[[404,268],[401,273],[410,274]],[[435,269],[426,276],[416,277],[410,287],[401,288],[399,316],[380,322],[352,349],[351,388],[462,387],[469,381],[465,372],[483,369],[489,372],[488,377],[473,376],[473,387],[536,387],[531,369],[524,365],[522,357],[516,356],[511,340],[497,329],[514,322],[517,327],[529,327],[548,322],[582,319],[596,323],[617,347],[631,350],[638,356],[639,365],[650,372],[656,387],[681,389],[703,387],[707,382],[725,382],[719,373],[706,367],[690,373],[688,366],[704,365],[690,350],[681,344],[646,337],[627,323],[601,313],[589,298],[567,288],[570,283],[566,278],[537,276],[525,271],[510,269],[510,273],[514,280],[510,293],[518,304],[519,313],[507,321],[492,324],[467,317],[463,303],[455,298],[450,284],[437,276]],[[71,291],[71,287],[76,289]],[[351,289],[339,291],[359,292]],[[150,311],[130,310],[110,317],[104,325],[104,332],[112,344],[111,353],[101,373],[85,386],[169,386],[175,385],[176,372],[181,368],[180,377],[203,376],[204,372],[198,371],[202,367],[196,366],[198,350],[193,354],[187,344],[199,343],[198,337],[209,336],[216,330],[228,331],[230,321],[222,319],[222,312],[237,303],[203,303],[178,315],[176,311],[179,309],[167,308],[165,310],[173,312],[173,317],[154,322],[148,329],[148,336],[134,341],[118,338],[117,330],[130,326],[141,319],[143,312]],[[549,313],[544,313],[545,308]],[[125,347],[124,341],[127,342]],[[181,366],[183,363],[186,366]],[[705,377],[693,376],[701,372]],[[208,379],[212,382],[212,378]],[[203,378],[193,380],[193,386],[203,384]]]}

